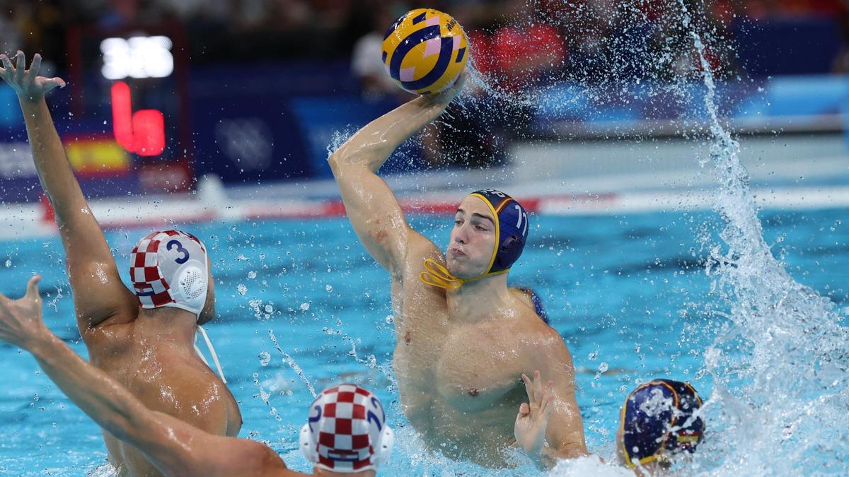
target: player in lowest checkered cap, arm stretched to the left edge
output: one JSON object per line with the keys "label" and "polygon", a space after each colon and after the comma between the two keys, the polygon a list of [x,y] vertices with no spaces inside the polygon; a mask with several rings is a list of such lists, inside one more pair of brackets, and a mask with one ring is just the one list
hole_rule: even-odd
{"label": "player in lowest checkered cap, arm stretched to the left edge", "polygon": [[[265,444],[205,432],[146,407],[109,374],[83,361],[44,324],[39,279],[30,279],[20,300],[0,295],[0,340],[31,352],[59,389],[104,432],[120,439],[125,450],[148,456],[156,474],[303,475],[287,469]],[[373,477],[389,458],[393,442],[380,401],[353,384],[323,390],[301,430],[301,450],[313,472],[321,475]]]}

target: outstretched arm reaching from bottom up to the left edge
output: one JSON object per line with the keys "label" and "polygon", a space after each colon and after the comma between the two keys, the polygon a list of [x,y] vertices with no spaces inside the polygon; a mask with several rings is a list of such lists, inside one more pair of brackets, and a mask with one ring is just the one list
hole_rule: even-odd
{"label": "outstretched arm reaching from bottom up to the left edge", "polygon": [[111,435],[138,448],[166,475],[262,475],[274,470],[296,475],[285,472],[280,457],[259,442],[207,434],[151,411],[85,362],[44,325],[40,278],[30,279],[20,300],[0,295],[0,340],[30,351],[59,389]]}

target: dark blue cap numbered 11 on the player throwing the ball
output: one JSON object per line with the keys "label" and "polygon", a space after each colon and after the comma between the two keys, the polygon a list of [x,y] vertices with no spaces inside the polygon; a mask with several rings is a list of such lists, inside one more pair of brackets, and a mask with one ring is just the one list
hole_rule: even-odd
{"label": "dark blue cap numbered 11 on the player throwing the ball", "polygon": [[486,202],[495,217],[497,241],[492,260],[484,275],[506,272],[519,260],[528,238],[528,215],[515,199],[492,188],[475,191],[469,196]]}

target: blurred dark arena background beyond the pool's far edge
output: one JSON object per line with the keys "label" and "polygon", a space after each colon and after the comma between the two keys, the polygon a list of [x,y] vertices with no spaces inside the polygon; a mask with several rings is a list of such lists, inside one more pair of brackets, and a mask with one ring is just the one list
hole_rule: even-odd
{"label": "blurred dark arena background beyond the pool's far edge", "polygon": [[[45,74],[69,81],[49,102],[93,197],[186,193],[211,178],[219,200],[328,199],[335,196],[322,185],[329,149],[412,98],[385,74],[380,45],[394,19],[421,6],[0,0],[0,49],[41,52]],[[553,180],[559,194],[696,187],[694,156],[709,154],[693,141],[706,132],[700,76],[709,69],[722,122],[743,138],[756,184],[846,182],[849,2],[426,6],[464,25],[477,73],[450,114],[400,149],[385,174],[449,171],[456,179],[458,171],[484,171],[469,181],[509,177],[537,194]],[[684,8],[705,42],[704,64],[683,25]],[[32,203],[41,191],[15,103],[0,85],[0,199]],[[143,113],[134,131],[115,127],[118,116],[133,124],[138,111],[153,120]],[[432,192],[445,182],[416,177],[394,185],[430,183]],[[304,181],[318,182],[286,187]],[[265,187],[275,184],[281,187]]]}

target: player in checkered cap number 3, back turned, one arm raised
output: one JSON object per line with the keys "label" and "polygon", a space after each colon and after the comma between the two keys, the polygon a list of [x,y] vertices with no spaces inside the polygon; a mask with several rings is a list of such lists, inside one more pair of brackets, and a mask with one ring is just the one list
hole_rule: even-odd
{"label": "player in checkered cap number 3, back turned, one arm raised", "polygon": [[[16,67],[6,55],[0,60],[0,77],[18,94],[38,177],[56,211],[77,326],[93,364],[145,407],[212,435],[238,435],[242,418],[236,401],[223,377],[216,377],[194,351],[197,325],[216,314],[211,264],[203,244],[173,230],[149,234],[131,256],[135,294],[127,289],[44,99],[65,81],[37,76],[39,55],[30,70],[25,70],[22,52]],[[119,474],[159,475],[148,457],[106,430],[104,441]]]}

